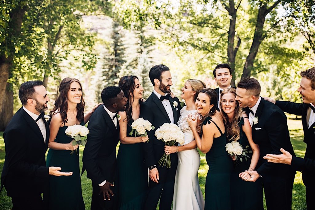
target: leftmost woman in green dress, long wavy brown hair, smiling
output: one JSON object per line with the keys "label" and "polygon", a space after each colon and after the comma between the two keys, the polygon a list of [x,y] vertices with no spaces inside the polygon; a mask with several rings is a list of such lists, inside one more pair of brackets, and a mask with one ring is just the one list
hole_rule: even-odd
{"label": "leftmost woman in green dress, long wavy brown hair, smiling", "polygon": [[[65,134],[68,126],[85,125],[91,112],[84,116],[84,100],[79,80],[65,78],[60,83],[60,95],[56,98],[55,107],[50,111],[49,151],[47,166],[60,166],[62,172],[73,172],[69,177],[50,176],[49,193],[44,199],[49,202],[49,209],[85,209],[80,178],[79,148],[72,145],[72,137]],[[71,155],[71,151],[74,153]]]}

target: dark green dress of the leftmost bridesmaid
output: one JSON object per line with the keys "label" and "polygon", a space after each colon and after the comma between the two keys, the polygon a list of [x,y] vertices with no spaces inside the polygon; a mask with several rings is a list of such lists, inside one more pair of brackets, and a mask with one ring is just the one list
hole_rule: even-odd
{"label": "dark green dress of the leftmost bridesmaid", "polygon": [[[80,125],[84,125],[82,122]],[[59,128],[55,142],[70,143],[73,139],[65,134],[68,126]],[[89,141],[89,140],[88,140]],[[61,172],[73,172],[72,176],[50,176],[49,209],[84,210],[79,166],[79,148],[73,155],[70,150],[49,149],[47,166],[61,167]]]}

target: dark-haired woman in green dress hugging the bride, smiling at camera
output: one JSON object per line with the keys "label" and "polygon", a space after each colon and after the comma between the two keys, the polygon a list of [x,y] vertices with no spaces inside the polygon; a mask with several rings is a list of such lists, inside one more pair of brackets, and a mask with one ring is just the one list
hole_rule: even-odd
{"label": "dark-haired woman in green dress hugging the bride, smiling at camera", "polygon": [[197,120],[188,115],[187,122],[192,128],[196,143],[201,152],[206,153],[209,171],[205,187],[205,210],[230,210],[230,178],[232,159],[225,150],[226,135],[221,114],[216,111],[215,90],[203,89],[196,100],[197,112],[203,116],[198,132]]}

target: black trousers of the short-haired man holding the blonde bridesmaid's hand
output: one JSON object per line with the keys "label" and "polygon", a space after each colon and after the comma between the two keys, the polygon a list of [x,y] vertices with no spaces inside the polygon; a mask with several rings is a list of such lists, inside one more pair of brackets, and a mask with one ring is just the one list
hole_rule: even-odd
{"label": "black trousers of the short-haired man holding the blonde bridesmaid's hand", "polygon": [[291,210],[294,178],[295,173],[292,173],[272,182],[263,181],[268,210]]}

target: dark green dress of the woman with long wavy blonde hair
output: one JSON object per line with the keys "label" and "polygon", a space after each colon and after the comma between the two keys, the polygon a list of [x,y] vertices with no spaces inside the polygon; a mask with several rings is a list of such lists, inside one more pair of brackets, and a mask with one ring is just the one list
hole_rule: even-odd
{"label": "dark green dress of the woman with long wavy blonde hair", "polygon": [[[242,125],[244,125],[243,117],[239,121],[240,139],[238,142],[245,148],[252,150],[248,139],[243,131]],[[243,162],[237,161],[231,174],[231,204],[233,210],[262,210],[264,209],[263,204],[263,193],[262,193],[262,179],[259,178],[255,182],[246,182],[238,177],[238,174],[249,169],[250,161],[253,153],[249,153],[249,159]]]}

